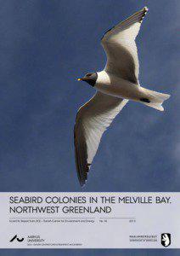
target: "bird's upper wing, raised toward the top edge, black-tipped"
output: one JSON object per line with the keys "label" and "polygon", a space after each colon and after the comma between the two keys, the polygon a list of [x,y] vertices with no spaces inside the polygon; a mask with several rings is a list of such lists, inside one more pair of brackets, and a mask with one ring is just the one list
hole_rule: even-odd
{"label": "bird's upper wing, raised toward the top edge, black-tipped", "polygon": [[135,39],[148,9],[144,7],[104,33],[101,44],[107,55],[105,71],[138,84],[138,50]]}

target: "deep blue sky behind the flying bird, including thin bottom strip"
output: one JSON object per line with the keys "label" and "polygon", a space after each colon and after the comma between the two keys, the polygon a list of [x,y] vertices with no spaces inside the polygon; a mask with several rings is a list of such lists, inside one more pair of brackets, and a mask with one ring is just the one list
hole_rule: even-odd
{"label": "deep blue sky behind the flying bird, including thin bottom strip", "polygon": [[[0,191],[179,191],[179,1],[1,0],[0,4]],[[145,5],[149,14],[137,40],[139,80],[142,86],[172,97],[164,113],[127,104],[104,134],[87,185],[81,189],[73,126],[77,109],[94,90],[76,78],[104,68],[100,45],[104,31]],[[10,252],[7,255],[18,251]],[[37,255],[35,250],[20,252]],[[87,252],[73,255],[136,255],[129,250]]]}

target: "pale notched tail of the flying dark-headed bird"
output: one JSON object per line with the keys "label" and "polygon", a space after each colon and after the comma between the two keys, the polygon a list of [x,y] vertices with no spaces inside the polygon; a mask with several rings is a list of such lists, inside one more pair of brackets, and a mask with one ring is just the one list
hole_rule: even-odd
{"label": "pale notched tail of the flying dark-headed bird", "polygon": [[144,105],[149,106],[151,108],[155,108],[160,111],[164,111],[164,108],[162,107],[162,103],[169,99],[171,95],[166,93],[160,93],[154,90],[148,90],[143,88],[145,92],[144,98],[140,99],[140,102],[142,102]]}

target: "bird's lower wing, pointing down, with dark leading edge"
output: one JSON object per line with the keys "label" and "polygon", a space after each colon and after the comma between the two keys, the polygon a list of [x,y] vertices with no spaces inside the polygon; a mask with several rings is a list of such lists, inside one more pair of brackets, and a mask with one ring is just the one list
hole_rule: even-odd
{"label": "bird's lower wing, pointing down, with dark leading edge", "polygon": [[76,170],[80,184],[87,180],[87,173],[97,152],[104,131],[128,100],[97,92],[76,115],[74,143]]}

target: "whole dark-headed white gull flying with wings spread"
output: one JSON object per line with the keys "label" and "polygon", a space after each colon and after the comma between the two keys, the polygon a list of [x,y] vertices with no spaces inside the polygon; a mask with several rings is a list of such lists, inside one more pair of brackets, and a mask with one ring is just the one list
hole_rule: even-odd
{"label": "whole dark-headed white gull flying with wings spread", "polygon": [[170,97],[143,88],[138,81],[139,64],[135,39],[148,9],[144,7],[104,33],[101,44],[107,55],[104,70],[87,73],[80,81],[97,92],[76,115],[74,143],[76,170],[83,186],[104,131],[129,100],[163,111]]}

